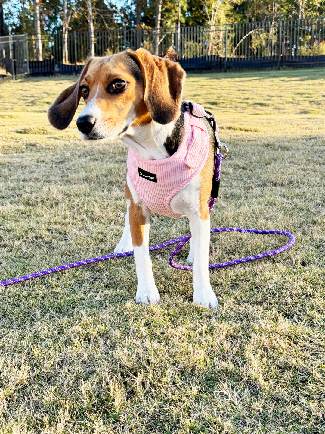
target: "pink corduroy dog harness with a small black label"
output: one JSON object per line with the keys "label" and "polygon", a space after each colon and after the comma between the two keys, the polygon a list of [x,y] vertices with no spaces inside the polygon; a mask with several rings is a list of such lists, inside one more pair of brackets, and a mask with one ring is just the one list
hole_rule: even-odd
{"label": "pink corduroy dog harness with a small black label", "polygon": [[[188,101],[184,103],[188,109]],[[205,109],[194,102],[192,107],[193,114],[184,113],[184,136],[175,154],[163,160],[145,160],[129,149],[127,156],[134,190],[149,210],[167,217],[182,217],[174,213],[170,201],[201,172],[208,158],[209,135],[200,120],[206,116]]]}

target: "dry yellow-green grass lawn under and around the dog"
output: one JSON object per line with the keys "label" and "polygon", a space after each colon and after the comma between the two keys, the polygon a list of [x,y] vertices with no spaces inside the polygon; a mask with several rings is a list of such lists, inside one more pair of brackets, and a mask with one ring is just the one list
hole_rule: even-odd
{"label": "dry yellow-green grass lawn under and around the dog", "polygon": [[[151,254],[157,306],[135,304],[133,258],[0,288],[1,434],[325,432],[324,77],[188,74],[184,97],[230,149],[211,226],[288,230],[296,244],[211,271],[214,310],[192,305],[170,249]],[[111,253],[122,234],[127,150],[46,118],[74,80],[0,85],[0,280]],[[150,242],[187,231],[153,215]],[[214,235],[211,262],[287,240]]]}

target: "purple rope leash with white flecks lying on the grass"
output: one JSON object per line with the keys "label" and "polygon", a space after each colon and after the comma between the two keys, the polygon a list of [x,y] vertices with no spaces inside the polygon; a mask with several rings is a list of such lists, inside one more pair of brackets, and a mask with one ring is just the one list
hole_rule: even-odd
{"label": "purple rope leash with white flecks lying on the grass", "polygon": [[[215,168],[214,168],[214,182],[217,183],[217,185],[219,185],[219,182],[220,182],[222,158],[223,157],[221,154],[216,155]],[[218,194],[218,188],[217,188],[217,194]],[[211,214],[211,211],[214,207],[214,203],[215,203],[215,198],[211,198],[210,203],[209,203],[210,214]],[[248,233],[263,233],[263,234],[269,234],[269,235],[284,235],[285,237],[289,237],[290,241],[285,246],[280,247],[279,249],[276,249],[276,250],[271,250],[270,252],[260,253],[258,255],[248,256],[247,258],[236,259],[233,261],[221,262],[218,264],[210,264],[209,269],[229,267],[231,265],[242,264],[242,263],[257,260],[257,259],[267,258],[268,256],[277,255],[278,253],[284,252],[285,250],[289,249],[295,243],[295,237],[293,236],[293,234],[289,233],[289,232],[285,232],[283,230],[239,229],[239,228],[233,228],[233,227],[217,227],[217,228],[211,229],[211,233],[214,233],[214,232],[233,232],[233,231],[248,232]],[[149,247],[149,250],[150,251],[159,250],[159,249],[162,249],[163,247],[168,247],[168,246],[171,246],[172,244],[179,243],[169,256],[169,265],[176,268],[177,270],[192,270],[192,265],[180,265],[180,264],[176,264],[173,261],[173,259],[175,258],[176,254],[179,252],[179,250],[181,250],[182,247],[190,239],[191,239],[191,233],[188,233],[184,237],[175,238],[174,240],[166,241],[165,243],[157,244],[156,246],[151,246],[151,247]],[[112,253],[112,254],[107,255],[107,256],[99,256],[97,258],[85,259],[83,261],[77,261],[77,262],[74,262],[71,264],[60,265],[60,266],[57,266],[54,268],[49,268],[49,270],[39,271],[38,273],[32,273],[32,274],[29,274],[27,276],[16,277],[15,279],[5,280],[3,282],[0,282],[0,286],[14,285],[15,283],[20,283],[20,282],[24,282],[26,280],[35,279],[36,277],[45,276],[46,274],[52,274],[52,273],[56,273],[58,271],[68,270],[69,268],[81,267],[82,265],[92,264],[95,262],[106,261],[107,259],[122,258],[124,256],[133,256],[133,251],[117,253],[115,255]]]}

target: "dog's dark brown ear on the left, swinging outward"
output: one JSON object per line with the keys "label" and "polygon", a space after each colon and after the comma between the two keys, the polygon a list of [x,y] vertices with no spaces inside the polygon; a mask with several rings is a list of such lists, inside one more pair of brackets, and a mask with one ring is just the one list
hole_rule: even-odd
{"label": "dog's dark brown ear on the left, swinging outward", "polygon": [[49,118],[50,123],[58,130],[64,130],[67,128],[75,115],[81,98],[79,83],[85,76],[90,62],[91,58],[86,61],[78,81],[61,92],[47,112],[47,117]]}

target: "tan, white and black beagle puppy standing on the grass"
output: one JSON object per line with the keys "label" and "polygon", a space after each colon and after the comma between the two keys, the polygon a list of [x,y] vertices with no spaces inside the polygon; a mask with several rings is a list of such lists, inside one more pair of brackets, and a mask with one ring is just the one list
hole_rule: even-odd
{"label": "tan, white and black beagle puppy standing on the grass", "polygon": [[[171,158],[184,134],[185,71],[177,60],[173,49],[167,50],[164,58],[143,48],[91,57],[78,81],[50,107],[49,122],[55,128],[67,128],[82,97],[86,105],[78,116],[77,127],[83,140],[119,138],[141,161]],[[192,239],[187,261],[193,263],[193,302],[213,308],[218,306],[218,299],[208,271],[208,199],[214,171],[214,132],[205,118],[196,122],[208,134],[206,161],[200,172],[171,198],[169,207],[175,215],[189,219]],[[129,174],[125,197],[125,226],[114,253],[134,251],[136,302],[158,303],[160,295],[149,257],[150,209],[137,194]]]}

